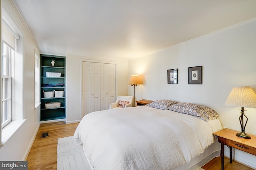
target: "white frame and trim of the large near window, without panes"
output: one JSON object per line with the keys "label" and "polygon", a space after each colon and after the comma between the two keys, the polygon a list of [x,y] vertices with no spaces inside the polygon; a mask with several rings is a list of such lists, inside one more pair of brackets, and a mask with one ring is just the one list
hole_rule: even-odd
{"label": "white frame and trim of the large near window, without panes", "polygon": [[[0,63],[1,66],[3,65],[2,61],[2,53],[4,53],[3,43],[6,43],[9,47],[13,49],[14,57],[12,59],[12,121],[8,123],[5,127],[2,126],[2,120],[0,121],[0,142],[4,143],[7,141],[12,134],[4,133],[3,131],[8,131],[8,129],[16,129],[16,124],[19,122],[23,122],[24,119],[24,35],[17,27],[16,23],[12,20],[12,18],[8,15],[8,12],[1,7],[2,9],[2,22],[5,24],[5,27],[10,31],[10,33],[15,37],[15,47],[11,47],[10,44],[5,42],[1,38],[1,58]],[[7,25],[6,25],[7,24]],[[1,27],[1,37],[2,36],[2,27]],[[1,71],[1,86],[2,86],[2,68]],[[1,115],[0,119],[2,119],[2,97],[3,97],[3,90],[1,89]],[[4,130],[5,129],[5,130]],[[2,133],[3,132],[3,133]]]}

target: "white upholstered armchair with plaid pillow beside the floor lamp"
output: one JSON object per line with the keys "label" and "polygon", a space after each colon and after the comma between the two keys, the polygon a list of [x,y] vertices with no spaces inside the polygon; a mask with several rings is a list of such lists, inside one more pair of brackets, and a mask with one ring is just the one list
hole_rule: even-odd
{"label": "white upholstered armchair with plaid pillow beside the floor lamp", "polygon": [[115,107],[132,107],[132,96],[117,96],[116,102],[109,105],[110,109]]}

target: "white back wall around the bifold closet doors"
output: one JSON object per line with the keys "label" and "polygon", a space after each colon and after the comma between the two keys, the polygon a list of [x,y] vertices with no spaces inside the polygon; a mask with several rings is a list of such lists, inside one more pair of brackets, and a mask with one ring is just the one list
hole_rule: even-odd
{"label": "white back wall around the bifold closet doors", "polygon": [[66,56],[66,123],[79,122],[82,116],[81,62],[82,60],[116,63],[117,95],[128,95],[128,60]]}

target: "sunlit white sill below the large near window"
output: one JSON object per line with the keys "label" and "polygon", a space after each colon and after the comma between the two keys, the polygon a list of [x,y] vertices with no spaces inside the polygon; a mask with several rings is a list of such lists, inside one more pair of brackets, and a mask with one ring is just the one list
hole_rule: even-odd
{"label": "sunlit white sill below the large near window", "polygon": [[26,119],[16,120],[16,121],[12,121],[8,125],[6,125],[2,129],[2,141],[1,141],[1,144],[6,143],[12,137],[12,135],[14,135],[14,133],[20,128],[20,126],[25,121],[26,121]]}

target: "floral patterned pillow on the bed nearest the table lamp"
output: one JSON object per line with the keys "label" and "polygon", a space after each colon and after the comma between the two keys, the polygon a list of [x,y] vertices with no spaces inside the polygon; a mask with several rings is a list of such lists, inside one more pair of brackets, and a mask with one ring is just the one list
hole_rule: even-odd
{"label": "floral patterned pillow on the bed nearest the table lamp", "polygon": [[216,111],[210,109],[209,107],[192,103],[174,104],[168,107],[168,109],[172,111],[177,111],[179,113],[197,116],[204,119],[204,121],[217,119],[217,117],[219,116]]}

